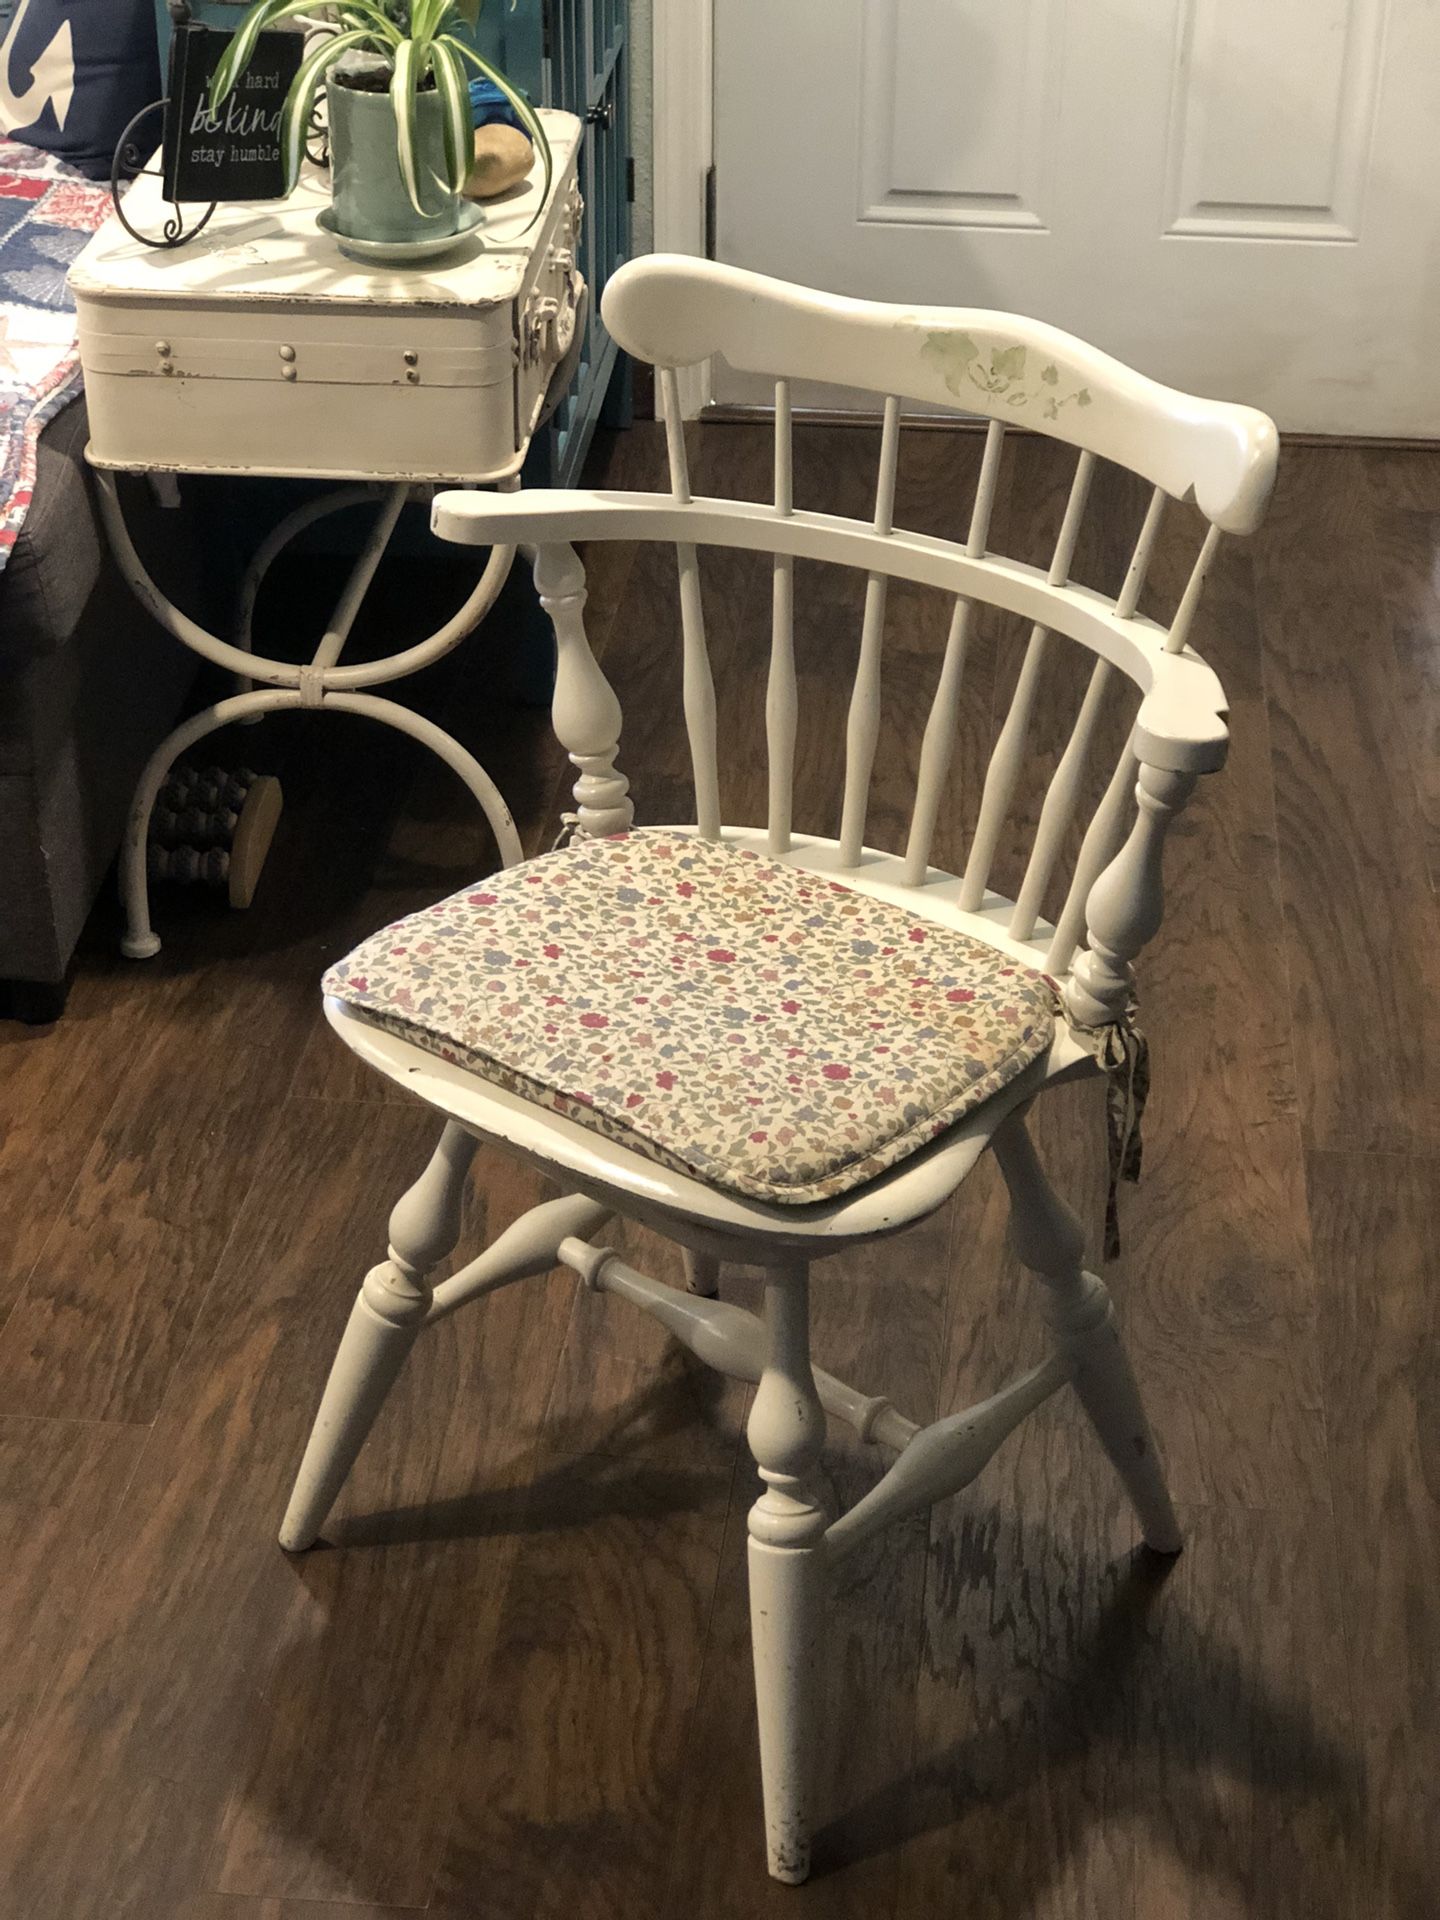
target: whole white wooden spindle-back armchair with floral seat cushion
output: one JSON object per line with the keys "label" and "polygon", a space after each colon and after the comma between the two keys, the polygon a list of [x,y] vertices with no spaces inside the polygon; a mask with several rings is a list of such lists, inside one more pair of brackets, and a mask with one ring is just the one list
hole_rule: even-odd
{"label": "whole white wooden spindle-back armchair with floral seat cushion", "polygon": [[[1263,513],[1277,440],[1275,428],[1260,413],[1158,386],[1035,321],[837,300],[708,261],[649,257],[626,267],[607,288],[605,321],[630,353],[659,367],[670,493],[465,492],[442,493],[434,503],[436,532],[447,540],[534,547],[536,582],[559,641],[555,732],[580,774],[574,787],[576,841],[568,852],[518,868],[513,879],[499,876],[484,883],[486,891],[457,897],[428,916],[401,922],[328,975],[326,1016],[342,1041],[380,1073],[434,1106],[445,1117],[445,1127],[434,1160],[390,1217],[388,1258],[365,1279],[280,1540],[290,1549],[307,1548],[315,1540],[417,1334],[457,1306],[547,1271],[559,1261],[570,1265],[588,1286],[618,1294],[653,1313],[703,1361],[756,1384],[747,1436],[764,1488],[749,1519],[749,1569],[766,1837],[770,1872],[778,1880],[799,1882],[808,1872],[810,1763],[818,1738],[826,1578],[845,1553],[889,1521],[966,1486],[1004,1436],[1062,1386],[1075,1390],[1129,1490],[1148,1544],[1162,1553],[1173,1553],[1181,1544],[1110,1298],[1100,1279],[1083,1265],[1079,1223],[1046,1183],[1023,1116],[1046,1087],[1098,1071],[1096,1035],[1104,1039],[1106,1029],[1117,1031],[1127,1020],[1131,962],[1160,925],[1165,829],[1190,795],[1196,776],[1219,768],[1225,758],[1225,697],[1210,668],[1188,651],[1187,632],[1219,536],[1250,532]],[[691,495],[678,424],[676,369],[710,353],[722,353],[733,367],[770,374],[778,382],[776,490],[770,505]],[[801,374],[887,396],[870,522],[793,505],[787,380]],[[991,420],[964,543],[893,526],[904,399],[950,405]],[[1058,545],[1044,572],[987,549],[1004,428],[1010,422],[1079,449]],[[1096,457],[1131,468],[1154,488],[1116,601],[1068,578]],[[1194,499],[1210,530],[1165,630],[1142,618],[1137,601],[1167,497]],[[659,540],[672,541],[678,551],[684,712],[695,778],[695,824],[666,829],[660,835],[664,847],[649,843],[653,829],[637,829],[624,841],[605,839],[630,828],[632,803],[628,781],[616,770],[620,708],[586,643],[584,570],[570,545],[576,540]],[[716,707],[697,561],[697,549],[707,545],[743,547],[774,557],[774,634],[764,720],[770,810],[762,828],[730,828],[720,820]],[[791,607],[797,559],[860,568],[868,582],[858,672],[849,703],[839,841],[801,833],[791,824],[797,730]],[[937,662],[908,841],[899,852],[881,852],[866,845],[864,829],[877,745],[881,634],[891,580],[941,589],[952,597],[954,612],[945,655]],[[1014,701],[989,762],[966,870],[950,876],[929,866],[929,849],[956,735],[975,603],[1021,614],[1033,622],[1033,630]],[[1094,668],[1069,747],[1048,787],[1023,883],[1010,902],[989,891],[989,870],[1023,764],[1041,659],[1050,636],[1064,636],[1085,647],[1094,655]],[[1039,904],[1056,877],[1056,862],[1096,741],[1106,685],[1116,674],[1139,687],[1139,714],[1085,831],[1064,908],[1058,922],[1048,925],[1039,916]],[[1131,797],[1139,801],[1139,808],[1133,808]],[[636,851],[641,841],[645,845]],[[622,1004],[618,983],[647,983],[651,973],[664,983],[666,966],[674,958],[670,950],[670,958],[641,950],[637,966],[626,968],[624,956],[616,964],[616,954],[605,941],[611,925],[626,922],[626,914],[616,914],[612,895],[605,895],[599,906],[593,897],[595,885],[609,885],[605,876],[611,870],[605,862],[620,862],[611,879],[614,874],[624,877],[630,872],[624,862],[632,858],[685,858],[687,847],[695,851],[685,872],[697,876],[691,887],[691,895],[695,887],[701,893],[697,908],[705,902],[705,889],[726,885],[724,876],[741,872],[733,862],[749,856],[751,866],[743,872],[760,876],[774,899],[781,900],[776,925],[801,929],[804,916],[787,918],[791,908],[781,899],[785,889],[776,893],[772,868],[758,864],[776,862],[799,876],[793,885],[808,887],[808,877],[818,877],[808,899],[820,899],[824,914],[891,916],[883,920],[881,933],[885,927],[908,927],[920,929],[908,933],[910,941],[933,935],[950,954],[947,964],[954,966],[966,964],[964,941],[956,937],[968,935],[981,943],[975,950],[987,956],[993,973],[998,956],[1004,968],[1020,964],[1037,970],[1037,975],[1050,975],[1058,985],[1060,1018],[1046,1029],[1037,1016],[1031,1025],[1039,1033],[1039,1050],[1014,1071],[1014,1060],[996,1068],[1002,1083],[981,1104],[972,1104],[948,1125],[943,1123],[943,1114],[939,1121],[931,1116],[929,1127],[918,1129],[904,1150],[893,1152],[891,1142],[885,1152],[872,1154],[864,1162],[868,1177],[856,1177],[843,1190],[828,1190],[816,1198],[812,1188],[804,1188],[808,1198],[803,1204],[795,1204],[793,1192],[766,1196],[766,1167],[758,1165],[756,1171],[753,1154],[751,1190],[737,1188],[733,1181],[726,1185],[724,1146],[701,1177],[684,1152],[657,1148],[653,1140],[630,1135],[624,1119],[614,1117],[624,1112],[624,1075],[634,1069],[616,1066],[605,1052],[609,1037],[595,1041],[595,1060],[618,1081],[605,1092],[609,1117],[586,1106],[584,1092],[566,1098],[561,1087],[557,1096],[557,1089],[547,1085],[545,1069],[536,1064],[543,1043],[540,1054],[526,1054],[518,1062],[499,1058],[507,1050],[507,1035],[538,1018],[536,1002],[543,1002],[545,995],[526,991],[522,975],[513,970],[507,973],[505,954],[484,950],[486,937],[507,941],[516,916],[526,918],[528,897],[522,887],[541,885],[545,912],[530,918],[549,933],[574,925],[584,948],[584,968],[593,968],[593,973],[584,968],[580,973],[582,981],[593,983],[593,1006],[582,1020],[591,1029],[603,1029],[609,1020],[605,1010],[616,1012]],[[568,908],[559,881],[551,887],[545,879],[557,874],[572,881]],[[722,877],[716,879],[716,874]],[[634,895],[639,912],[645,908],[639,900],[643,891],[645,881],[622,899],[630,902]],[[659,895],[649,902],[651,908],[655,900]],[[564,920],[566,910],[572,912],[572,922]],[[770,912],[768,906],[758,910]],[[670,918],[666,939],[687,939],[687,933],[676,931],[682,925],[682,920]],[[432,962],[442,952],[436,939],[445,943],[444,952],[449,956],[440,970],[440,987],[432,972]],[[417,960],[417,945],[430,947],[422,960]],[[551,943],[557,950],[561,945],[563,941]],[[724,950],[718,958],[737,956]],[[509,960],[515,960],[515,948]],[[545,962],[557,964],[563,962]],[[897,979],[904,981],[904,991],[914,993],[933,985],[916,977],[914,968],[902,972],[904,966],[900,956],[891,958],[889,968],[864,973],[864,991],[891,993]],[[380,993],[371,977],[374,968],[388,970]],[[411,975],[409,968],[420,972]],[[682,975],[672,970],[670,977]],[[751,972],[751,987],[737,991],[753,991],[756,977],[760,975]],[[555,985],[553,973],[543,979]],[[1012,979],[1006,981],[1010,985]],[[492,1018],[488,1027],[484,1021],[493,1014],[493,1002],[484,1002],[480,987],[493,987],[501,995],[501,1016]],[[1031,996],[1048,991],[1031,975],[1023,975],[1023,989]],[[516,998],[505,1002],[505,991]],[[826,991],[822,987],[820,998]],[[950,998],[964,1000],[966,993],[952,993]],[[566,995],[553,998],[566,1000]],[[484,1002],[478,1010],[476,1000]],[[582,1004],[589,1006],[591,1000],[584,998]],[[687,1002],[699,1004],[693,998]],[[1035,1004],[1027,1002],[1031,1010]],[[574,1010],[568,1008],[566,1020],[572,1016]],[[745,1008],[730,1008],[726,1018],[755,1016],[747,1016]],[[447,1033],[447,1020],[459,1020],[461,1025],[470,1020],[470,1029]],[[666,1033],[666,1044],[684,1050],[685,1041],[676,1037],[676,1027]],[[935,1031],[927,1029],[927,1056],[943,1056],[943,1033],[935,1039]],[[647,1039],[641,1033],[637,1044],[651,1044],[653,1039],[655,1035]],[[520,1046],[518,1041],[515,1044]],[[747,1056],[755,1062],[758,1083],[768,1068],[762,1052],[766,1043],[760,1039],[749,1044],[760,1048]],[[831,1066],[831,1073],[837,1071],[845,1069]],[[624,1098],[630,1106],[643,1104],[636,1092]],[[707,1116],[707,1125],[712,1117]],[[755,1139],[758,1131],[762,1129],[735,1139]],[[933,1139],[925,1139],[927,1133]],[[501,1142],[557,1175],[568,1196],[538,1206],[459,1273],[432,1286],[428,1273],[457,1240],[461,1190],[478,1140]],[[897,1233],[941,1206],[985,1148],[995,1150],[1010,1187],[1018,1254],[1044,1286],[1052,1352],[981,1405],[918,1428],[885,1400],[868,1398],[812,1365],[808,1269],[826,1254]],[[737,1150],[737,1164],[739,1158]],[[685,1250],[689,1294],[634,1271],[595,1240],[612,1213],[647,1221]],[[726,1258],[766,1269],[764,1321],[714,1298],[714,1279]],[[897,1453],[877,1486],[843,1515],[829,1515],[816,1488],[826,1413],[849,1421],[862,1438]]]}

